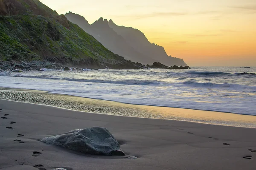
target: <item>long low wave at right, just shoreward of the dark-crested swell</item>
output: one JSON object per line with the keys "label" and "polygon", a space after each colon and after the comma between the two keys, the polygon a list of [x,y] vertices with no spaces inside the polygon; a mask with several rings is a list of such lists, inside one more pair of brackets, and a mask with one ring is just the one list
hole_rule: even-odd
{"label": "long low wave at right, just shoreward of the dark-crested swell", "polygon": [[192,87],[201,87],[201,88],[229,88],[233,90],[249,90],[252,92],[256,92],[256,86],[250,86],[250,85],[237,85],[237,84],[214,84],[210,82],[200,83],[200,82],[192,82],[187,81],[183,82],[184,85],[189,85]]}

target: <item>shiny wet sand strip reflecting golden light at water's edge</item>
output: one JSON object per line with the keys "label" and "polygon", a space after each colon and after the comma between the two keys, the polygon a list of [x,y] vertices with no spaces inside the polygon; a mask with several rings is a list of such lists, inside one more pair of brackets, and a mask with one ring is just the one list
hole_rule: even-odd
{"label": "shiny wet sand strip reflecting golden light at water's edge", "polygon": [[[3,93],[3,91],[5,91],[5,93],[8,93],[8,97],[17,97],[21,95],[20,97],[22,98],[22,95],[25,95],[26,98],[32,99],[32,101],[23,101],[17,97],[15,99],[7,98],[6,100],[54,106],[57,108],[68,109],[70,111],[82,111],[90,113],[100,113],[127,117],[141,117],[149,119],[178,120],[211,125],[256,128],[256,117],[253,115],[242,115],[215,111],[201,111],[185,108],[133,105],[102,99],[91,99],[66,94],[55,94],[49,93],[47,91],[37,91],[28,89],[23,90],[19,88],[0,88],[0,93]],[[12,94],[12,92],[15,91],[17,93]],[[0,99],[4,98],[1,97]],[[36,99],[39,102],[36,102],[33,99]],[[41,102],[40,99],[49,100],[50,102]],[[64,104],[56,105],[55,103]]]}

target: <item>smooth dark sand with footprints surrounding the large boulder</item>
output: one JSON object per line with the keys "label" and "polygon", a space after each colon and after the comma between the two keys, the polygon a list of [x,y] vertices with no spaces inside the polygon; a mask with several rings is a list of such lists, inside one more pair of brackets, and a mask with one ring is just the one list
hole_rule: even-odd
{"label": "smooth dark sand with footprints surrounding the large boulder", "polygon": [[[255,128],[85,113],[7,100],[0,100],[0,109],[0,117],[4,118],[0,119],[0,169],[3,170],[256,168]],[[126,156],[91,156],[38,141],[92,126],[108,128]],[[128,156],[138,159],[126,159]]]}

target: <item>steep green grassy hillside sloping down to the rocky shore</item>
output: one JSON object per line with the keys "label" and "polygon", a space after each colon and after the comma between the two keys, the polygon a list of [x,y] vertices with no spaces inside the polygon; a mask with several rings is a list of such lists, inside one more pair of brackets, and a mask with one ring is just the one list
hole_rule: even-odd
{"label": "steep green grassy hillside sloping down to the rocky shore", "polygon": [[0,62],[137,68],[39,0],[0,0]]}

